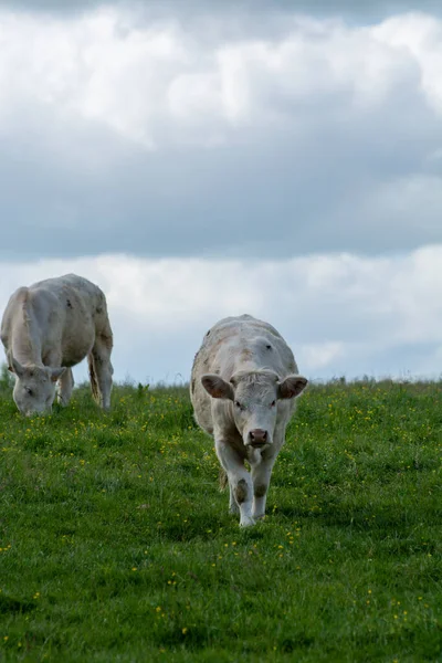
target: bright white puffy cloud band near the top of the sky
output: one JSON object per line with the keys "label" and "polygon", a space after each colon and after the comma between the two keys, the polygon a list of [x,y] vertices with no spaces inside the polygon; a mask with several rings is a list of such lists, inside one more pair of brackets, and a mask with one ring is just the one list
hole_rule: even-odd
{"label": "bright white puffy cloud band near the top of the sky", "polygon": [[141,23],[122,7],[71,18],[0,10],[0,118],[13,123],[15,107],[31,103],[151,148],[186,139],[197,125],[194,140],[210,140],[244,125],[305,122],[324,113],[320,99],[344,119],[354,107],[386,104],[401,86],[442,112],[434,18],[360,28],[293,14],[283,33],[227,41],[234,18],[217,20],[209,44],[198,22],[194,32],[172,19]]}

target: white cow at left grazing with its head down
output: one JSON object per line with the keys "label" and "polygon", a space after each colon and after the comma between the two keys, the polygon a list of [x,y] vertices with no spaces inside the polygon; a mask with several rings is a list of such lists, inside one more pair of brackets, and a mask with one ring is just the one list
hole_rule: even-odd
{"label": "white cow at left grazing with its head down", "polygon": [[74,387],[71,367],[86,356],[92,393],[109,408],[114,371],[106,297],[86,278],[66,274],[19,287],[4,311],[1,340],[22,414],[51,412],[57,381],[59,401],[67,404]]}

